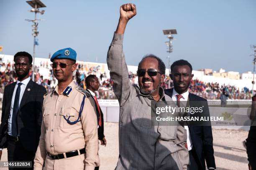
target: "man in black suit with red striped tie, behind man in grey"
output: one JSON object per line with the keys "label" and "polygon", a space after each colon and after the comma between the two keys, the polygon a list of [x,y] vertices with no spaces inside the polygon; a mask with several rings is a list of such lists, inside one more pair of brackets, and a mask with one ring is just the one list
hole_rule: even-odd
{"label": "man in black suit with red striped tie, behind man in grey", "polygon": [[[207,100],[192,93],[188,88],[192,77],[192,65],[186,60],[175,61],[171,66],[170,77],[173,80],[174,88],[164,90],[172,100],[185,101],[190,107],[196,103],[204,105],[204,111],[209,114]],[[193,102],[197,101],[197,102]],[[199,101],[199,102],[198,102]],[[206,108],[206,109],[205,109]],[[208,126],[184,126],[187,130],[187,148],[189,150],[189,163],[191,170],[205,170],[205,161],[208,169],[216,169],[213,155],[212,128]]]}

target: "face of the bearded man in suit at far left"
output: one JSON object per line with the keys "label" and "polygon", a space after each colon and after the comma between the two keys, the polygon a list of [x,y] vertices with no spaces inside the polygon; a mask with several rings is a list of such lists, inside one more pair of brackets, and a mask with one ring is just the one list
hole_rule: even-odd
{"label": "face of the bearded man in suit at far left", "polygon": [[30,63],[28,57],[17,56],[15,57],[15,72],[18,76],[19,81],[23,81],[29,77],[29,70],[32,68],[32,64]]}

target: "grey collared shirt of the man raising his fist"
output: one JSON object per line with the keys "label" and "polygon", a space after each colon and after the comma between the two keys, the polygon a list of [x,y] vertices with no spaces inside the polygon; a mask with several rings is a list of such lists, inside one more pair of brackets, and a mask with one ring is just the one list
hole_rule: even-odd
{"label": "grey collared shirt of the man raising his fist", "polygon": [[[114,34],[107,57],[113,91],[120,105],[119,158],[116,170],[187,169],[187,135],[182,126],[152,125],[152,95],[142,94],[128,77],[123,34]],[[172,100],[159,88],[160,100]]]}

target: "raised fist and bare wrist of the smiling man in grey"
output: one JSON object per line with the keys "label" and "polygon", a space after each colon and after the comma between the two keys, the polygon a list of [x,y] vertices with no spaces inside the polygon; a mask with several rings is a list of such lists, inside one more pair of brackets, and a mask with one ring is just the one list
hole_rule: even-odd
{"label": "raised fist and bare wrist of the smiling man in grey", "polygon": [[123,34],[128,21],[137,14],[135,4],[124,4],[120,6],[120,18],[115,33]]}

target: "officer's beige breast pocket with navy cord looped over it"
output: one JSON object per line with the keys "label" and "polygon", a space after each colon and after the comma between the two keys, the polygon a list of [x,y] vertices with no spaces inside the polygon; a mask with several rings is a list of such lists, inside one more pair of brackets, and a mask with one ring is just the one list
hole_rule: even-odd
{"label": "officer's beige breast pocket with navy cord looped over it", "polygon": [[59,115],[61,128],[74,128],[80,123],[79,112],[73,107],[62,108]]}

